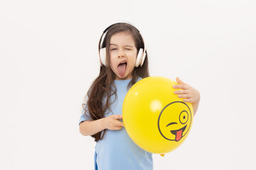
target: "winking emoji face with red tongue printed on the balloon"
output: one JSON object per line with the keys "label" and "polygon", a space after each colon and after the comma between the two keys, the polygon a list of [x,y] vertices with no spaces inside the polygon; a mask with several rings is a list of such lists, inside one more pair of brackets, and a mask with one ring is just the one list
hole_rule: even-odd
{"label": "winking emoji face with red tongue printed on the balloon", "polygon": [[166,140],[180,141],[191,128],[191,110],[182,101],[174,101],[166,105],[158,119],[161,136]]}

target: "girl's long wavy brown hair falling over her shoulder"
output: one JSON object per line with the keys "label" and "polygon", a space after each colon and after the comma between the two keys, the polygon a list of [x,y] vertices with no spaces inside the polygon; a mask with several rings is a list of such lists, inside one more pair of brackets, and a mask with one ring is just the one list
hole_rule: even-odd
{"label": "girl's long wavy brown hair falling over her shoulder", "polygon": [[[110,68],[110,50],[109,49],[110,49],[110,38],[112,37],[112,35],[116,33],[121,33],[121,32],[129,33],[132,35],[132,38],[134,39],[135,45],[137,47],[137,51],[139,52],[140,48],[144,49],[144,40],[142,38],[142,35],[139,33],[139,30],[137,30],[137,28],[130,25],[129,23],[116,23],[110,26],[109,28],[107,28],[106,30],[107,30],[107,33],[105,35],[104,40],[102,40],[102,47],[106,47],[107,67],[105,65],[102,65],[102,67],[100,67],[99,76],[95,79],[95,81],[92,82],[90,89],[87,91],[87,103],[82,103],[83,109],[85,109],[84,106],[87,105],[86,107],[87,109],[85,109],[85,113],[88,112],[92,120],[105,118],[105,113],[107,113],[107,111],[111,111],[110,105],[112,103],[110,103],[110,97],[114,95],[116,98],[117,96],[116,87],[114,86],[115,74]],[[99,42],[99,50],[102,47],[100,47],[100,42]],[[132,80],[129,82],[127,89],[129,89],[132,85],[134,85],[137,82],[137,79],[139,77],[142,77],[142,78],[149,77],[147,54],[142,67],[134,67],[134,70],[132,72]],[[103,98],[106,98],[106,100],[103,100]],[[95,138],[95,142],[97,142],[98,140],[102,140],[102,138],[105,135],[105,132],[106,132],[106,129],[103,130],[102,132],[97,132],[95,135],[92,135],[92,137]]]}

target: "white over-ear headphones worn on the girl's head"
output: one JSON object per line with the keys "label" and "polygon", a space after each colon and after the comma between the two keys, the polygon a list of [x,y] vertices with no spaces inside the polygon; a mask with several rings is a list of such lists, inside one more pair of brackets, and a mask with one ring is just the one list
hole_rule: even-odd
{"label": "white over-ear headphones worn on the girl's head", "polygon": [[[100,55],[100,65],[103,66],[107,66],[107,52],[106,52],[106,47],[103,47],[102,48],[102,43],[105,39],[105,35],[107,34],[107,31],[110,27],[114,26],[115,24],[117,23],[114,23],[112,24],[111,26],[109,26],[108,28],[106,28],[104,31],[103,31],[103,35],[102,35],[102,38],[100,38],[100,51],[99,51],[99,55]],[[135,27],[134,27],[135,28]],[[136,30],[138,30],[136,28]],[[139,30],[138,30],[139,32]],[[135,67],[139,67],[141,66],[142,67],[142,64],[144,63],[144,60],[145,60],[145,57],[146,57],[146,44],[144,42],[144,49],[143,48],[140,48],[139,49],[139,52],[138,52],[138,55],[137,55],[137,60],[135,62]]]}

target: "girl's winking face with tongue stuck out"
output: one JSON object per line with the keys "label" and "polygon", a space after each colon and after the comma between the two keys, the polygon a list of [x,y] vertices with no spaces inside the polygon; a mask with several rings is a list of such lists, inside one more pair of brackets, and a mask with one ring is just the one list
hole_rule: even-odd
{"label": "girl's winking face with tongue stuck out", "polygon": [[137,48],[130,33],[116,33],[110,38],[110,67],[116,80],[132,79]]}

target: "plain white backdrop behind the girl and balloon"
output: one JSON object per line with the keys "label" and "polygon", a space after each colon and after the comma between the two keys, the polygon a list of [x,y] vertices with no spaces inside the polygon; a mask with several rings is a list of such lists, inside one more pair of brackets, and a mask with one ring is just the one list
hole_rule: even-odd
{"label": "plain white backdrop behind the girl and balloon", "polygon": [[[0,169],[93,169],[79,132],[112,23],[142,33],[151,76],[201,92],[186,141],[154,169],[256,169],[256,2],[0,1]],[[118,160],[117,160],[118,161]]]}

